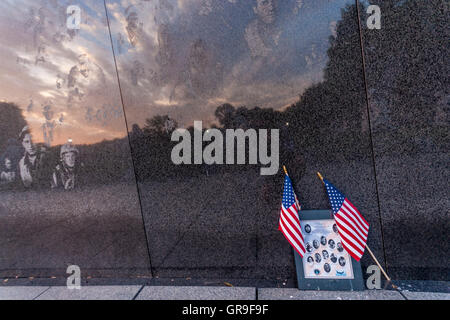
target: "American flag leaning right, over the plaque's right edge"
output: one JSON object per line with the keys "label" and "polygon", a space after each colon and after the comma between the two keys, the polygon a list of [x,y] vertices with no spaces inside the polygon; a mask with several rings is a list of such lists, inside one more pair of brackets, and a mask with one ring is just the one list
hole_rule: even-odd
{"label": "American flag leaning right, over the plaque's right edge", "polygon": [[323,182],[327,188],[342,246],[356,261],[359,261],[366,247],[369,223],[335,186],[327,180]]}

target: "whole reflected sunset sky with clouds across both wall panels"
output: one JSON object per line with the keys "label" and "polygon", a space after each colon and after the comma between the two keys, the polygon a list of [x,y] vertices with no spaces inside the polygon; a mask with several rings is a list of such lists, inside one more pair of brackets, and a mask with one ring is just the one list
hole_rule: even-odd
{"label": "whole reflected sunset sky with clouds across both wall panels", "polygon": [[[212,122],[225,102],[289,105],[322,80],[328,37],[346,2],[278,0],[267,26],[253,10],[256,0],[108,0],[129,125],[157,114],[182,126]],[[65,28],[69,4],[82,10],[73,39]],[[2,1],[0,17],[0,99],[23,109],[35,141],[43,140],[46,105],[52,144],[125,135],[103,1]],[[268,55],[252,56],[252,30],[260,30]]]}

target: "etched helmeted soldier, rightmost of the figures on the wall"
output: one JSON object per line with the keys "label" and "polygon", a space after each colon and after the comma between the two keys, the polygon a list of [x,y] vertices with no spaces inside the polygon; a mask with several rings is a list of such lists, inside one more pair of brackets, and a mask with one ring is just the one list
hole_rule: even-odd
{"label": "etched helmeted soldier, rightmost of the figures on the wall", "polygon": [[80,169],[82,168],[79,154],[80,152],[72,145],[71,141],[61,146],[60,162],[52,174],[52,188],[72,190],[79,186]]}

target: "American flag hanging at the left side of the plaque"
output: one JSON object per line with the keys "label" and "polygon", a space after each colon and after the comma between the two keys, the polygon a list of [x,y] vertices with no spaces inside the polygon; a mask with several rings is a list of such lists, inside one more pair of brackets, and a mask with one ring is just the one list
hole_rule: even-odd
{"label": "American flag hanging at the left side of the plaque", "polygon": [[298,211],[299,208],[297,207],[292,182],[286,174],[284,178],[283,201],[281,202],[278,230],[284,234],[286,240],[289,241],[295,251],[303,258],[303,255],[305,254],[305,242],[303,241]]}

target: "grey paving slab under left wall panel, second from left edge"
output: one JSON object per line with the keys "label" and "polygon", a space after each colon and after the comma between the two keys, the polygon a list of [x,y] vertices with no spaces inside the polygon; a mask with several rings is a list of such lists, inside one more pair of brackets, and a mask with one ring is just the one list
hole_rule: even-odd
{"label": "grey paving slab under left wall panel, second from left edge", "polygon": [[81,289],[51,287],[37,300],[131,300],[142,286],[82,286]]}

